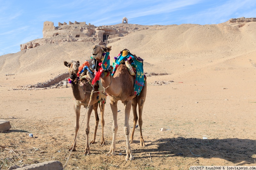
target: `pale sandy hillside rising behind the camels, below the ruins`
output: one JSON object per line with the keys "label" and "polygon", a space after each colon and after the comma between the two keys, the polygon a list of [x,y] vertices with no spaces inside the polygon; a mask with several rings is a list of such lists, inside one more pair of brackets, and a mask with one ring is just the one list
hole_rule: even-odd
{"label": "pale sandy hillside rising behind the camels, below the ruins", "polygon": [[[111,57],[127,48],[145,59],[145,72],[185,75],[228,60],[230,67],[248,67],[255,63],[256,22],[242,27],[231,22],[217,25],[181,24],[140,26],[127,24],[124,37],[109,39]],[[124,24],[123,24],[124,25]],[[120,27],[119,25],[109,27]],[[67,72],[63,61],[90,59],[92,42],[45,44],[15,54],[0,56],[1,75],[15,74],[21,85],[44,82]],[[243,62],[241,62],[244,58]],[[250,61],[249,61],[250,60]],[[21,81],[26,79],[26,81]],[[13,80],[9,78],[9,83]],[[7,83],[7,82],[6,82]],[[7,83],[8,84],[8,83]]]}

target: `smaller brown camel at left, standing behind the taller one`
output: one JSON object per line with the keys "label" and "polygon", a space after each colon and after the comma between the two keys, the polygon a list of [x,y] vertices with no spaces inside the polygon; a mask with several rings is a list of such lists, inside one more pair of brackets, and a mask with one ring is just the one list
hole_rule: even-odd
{"label": "smaller brown camel at left, standing behind the taller one", "polygon": [[[84,106],[85,108],[87,108],[86,111],[86,121],[85,121],[85,126],[86,126],[86,145],[85,145],[85,152],[84,154],[90,154],[90,148],[89,148],[89,121],[90,121],[90,116],[92,113],[92,110],[94,110],[94,115],[95,115],[95,130],[94,130],[94,138],[93,140],[90,142],[91,144],[95,143],[95,139],[96,139],[96,132],[98,129],[98,124],[99,124],[99,116],[98,116],[98,101],[99,99],[97,99],[97,95],[96,93],[92,94],[92,101],[89,104],[90,101],[90,96],[91,96],[91,91],[92,91],[92,86],[89,84],[88,81],[84,81],[83,83],[80,82],[77,78],[77,72],[78,72],[78,68],[79,68],[79,61],[70,61],[68,62],[64,62],[64,65],[68,67],[68,72],[69,72],[69,76],[71,79],[71,87],[72,87],[72,91],[73,91],[73,96],[74,96],[74,110],[76,113],[76,124],[75,124],[75,136],[74,136],[74,140],[73,143],[71,144],[71,147],[69,148],[69,151],[76,151],[76,136],[79,130],[79,117],[80,117],[80,108],[81,106]],[[96,86],[95,86],[96,87]],[[95,91],[98,91],[98,89],[95,89]],[[95,94],[95,95],[94,95]],[[105,140],[104,140],[104,135],[103,135],[103,129],[104,129],[104,107],[105,104],[103,104],[102,102],[100,102],[99,104],[100,106],[100,115],[101,115],[101,127],[102,127],[102,136],[101,136],[101,142],[100,144],[104,145],[105,144]]]}

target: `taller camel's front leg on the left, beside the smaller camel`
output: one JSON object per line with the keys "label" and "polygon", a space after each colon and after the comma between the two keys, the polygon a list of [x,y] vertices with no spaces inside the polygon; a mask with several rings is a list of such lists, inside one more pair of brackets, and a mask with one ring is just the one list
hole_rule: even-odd
{"label": "taller camel's front leg on the left, beside the smaller camel", "polygon": [[110,107],[113,113],[113,126],[112,126],[112,144],[110,146],[109,152],[106,154],[107,156],[110,155],[116,155],[116,132],[118,130],[118,124],[117,124],[117,101],[110,100]]}

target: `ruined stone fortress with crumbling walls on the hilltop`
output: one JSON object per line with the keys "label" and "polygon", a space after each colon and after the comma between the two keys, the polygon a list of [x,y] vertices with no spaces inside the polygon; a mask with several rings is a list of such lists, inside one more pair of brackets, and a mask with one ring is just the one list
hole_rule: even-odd
{"label": "ruined stone fortress with crumbling walls on the hilltop", "polygon": [[124,26],[128,25],[127,18],[126,22],[122,22],[120,26],[109,27],[109,26],[94,26],[90,23],[87,25],[86,22],[70,22],[67,24],[58,23],[58,26],[54,26],[53,22],[45,21],[43,27],[43,38],[29,41],[25,44],[20,45],[20,50],[28,48],[35,48],[39,45],[46,43],[63,43],[71,41],[92,41],[95,44],[106,45],[108,39],[114,37],[122,37],[128,34],[128,31],[124,30]]}

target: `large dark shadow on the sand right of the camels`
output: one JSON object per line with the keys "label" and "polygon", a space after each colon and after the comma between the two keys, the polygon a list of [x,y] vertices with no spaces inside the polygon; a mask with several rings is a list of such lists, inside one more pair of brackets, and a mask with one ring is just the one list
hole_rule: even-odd
{"label": "large dark shadow on the sand right of the camels", "polygon": [[256,154],[256,141],[251,139],[198,139],[198,138],[161,138],[149,141],[150,145],[157,145],[156,149],[137,149],[136,152],[149,152],[154,157],[202,157],[220,158],[233,163],[246,160],[254,163]]}

